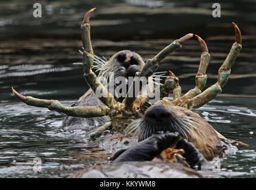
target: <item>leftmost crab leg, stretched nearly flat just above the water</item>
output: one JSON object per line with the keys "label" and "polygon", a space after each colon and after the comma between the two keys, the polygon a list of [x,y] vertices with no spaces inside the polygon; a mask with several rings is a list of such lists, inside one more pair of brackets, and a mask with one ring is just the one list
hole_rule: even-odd
{"label": "leftmost crab leg, stretched nearly flat just above the water", "polygon": [[12,87],[13,94],[20,99],[22,102],[29,106],[35,107],[47,107],[49,110],[54,110],[60,113],[66,113],[68,116],[80,117],[80,118],[94,118],[109,115],[110,108],[107,106],[73,106],[66,107],[63,106],[58,100],[44,100],[36,99],[32,96],[23,96],[19,94]]}

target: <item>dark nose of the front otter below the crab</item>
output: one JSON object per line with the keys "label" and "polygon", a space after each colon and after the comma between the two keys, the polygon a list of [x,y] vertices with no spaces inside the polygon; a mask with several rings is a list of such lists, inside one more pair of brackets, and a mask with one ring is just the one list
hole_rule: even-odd
{"label": "dark nose of the front otter below the crab", "polygon": [[158,122],[158,123],[166,123],[171,119],[171,112],[166,109],[165,106],[159,105],[152,107],[153,109],[147,110],[145,114],[145,119],[149,119],[150,121]]}

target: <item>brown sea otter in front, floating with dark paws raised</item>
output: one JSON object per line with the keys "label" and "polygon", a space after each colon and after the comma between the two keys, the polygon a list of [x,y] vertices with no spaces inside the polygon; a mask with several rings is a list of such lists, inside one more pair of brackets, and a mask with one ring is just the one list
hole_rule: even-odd
{"label": "brown sea otter in front, floating with dark paws raised", "polygon": [[[178,106],[153,105],[136,124],[138,143],[117,151],[110,157],[112,163],[86,167],[70,177],[201,178],[204,176],[191,168],[201,169],[207,160],[223,157],[228,146],[225,138],[198,113]],[[166,161],[164,156],[169,148],[178,150],[172,156],[178,163]],[[176,154],[179,152],[182,157]]]}

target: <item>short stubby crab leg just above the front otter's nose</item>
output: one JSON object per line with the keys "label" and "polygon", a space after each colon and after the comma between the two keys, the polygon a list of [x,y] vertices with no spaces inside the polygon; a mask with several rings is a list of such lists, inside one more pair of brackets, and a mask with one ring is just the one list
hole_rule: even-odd
{"label": "short stubby crab leg just above the front otter's nose", "polygon": [[[146,99],[143,100],[140,105],[141,113],[144,113],[150,106],[153,105],[153,103],[156,103],[158,100],[169,96],[169,94],[172,93],[175,88],[177,88],[178,78],[175,77],[171,71],[169,71],[169,75],[170,76],[165,80],[165,84],[159,84],[155,90],[153,90],[153,92],[147,95]],[[159,99],[156,100],[156,97],[159,97]],[[150,102],[150,100],[152,100],[152,102]]]}

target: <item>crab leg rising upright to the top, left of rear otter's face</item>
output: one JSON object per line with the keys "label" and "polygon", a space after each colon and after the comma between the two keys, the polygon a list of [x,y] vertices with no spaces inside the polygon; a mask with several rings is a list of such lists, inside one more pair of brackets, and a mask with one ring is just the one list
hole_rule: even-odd
{"label": "crab leg rising upright to the top, left of rear otter's face", "polygon": [[[90,11],[85,14],[84,20],[81,25],[82,33],[82,42],[84,45],[83,52],[83,65],[84,65],[84,78],[90,85],[91,89],[94,91],[98,99],[104,103],[107,107],[116,108],[119,106],[112,94],[107,91],[107,89],[101,84],[98,80],[97,75],[92,71],[92,64],[94,61],[94,53],[91,45],[90,37],[90,17],[94,12],[95,8],[92,8]],[[99,96],[98,96],[99,95]]]}

